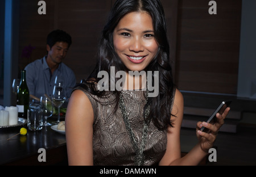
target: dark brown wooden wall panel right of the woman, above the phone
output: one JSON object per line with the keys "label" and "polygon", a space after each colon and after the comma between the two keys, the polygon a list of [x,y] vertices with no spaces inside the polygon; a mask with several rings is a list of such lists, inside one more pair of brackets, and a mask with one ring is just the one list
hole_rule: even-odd
{"label": "dark brown wooden wall panel right of the woman, above the phone", "polygon": [[176,83],[181,90],[236,94],[241,0],[179,1]]}

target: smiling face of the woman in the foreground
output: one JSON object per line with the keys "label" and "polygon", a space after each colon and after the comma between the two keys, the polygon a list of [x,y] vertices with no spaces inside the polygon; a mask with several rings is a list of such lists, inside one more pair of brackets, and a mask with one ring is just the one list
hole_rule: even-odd
{"label": "smiling face of the woman in the foreground", "polygon": [[151,16],[144,11],[123,16],[114,29],[113,43],[127,69],[144,70],[158,52]]}

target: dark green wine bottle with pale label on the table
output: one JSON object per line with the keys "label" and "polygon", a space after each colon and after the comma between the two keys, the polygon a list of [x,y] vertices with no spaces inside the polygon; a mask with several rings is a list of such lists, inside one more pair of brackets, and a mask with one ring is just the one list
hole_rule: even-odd
{"label": "dark green wine bottle with pale label on the table", "polygon": [[27,109],[30,102],[30,91],[26,82],[26,70],[21,71],[21,79],[17,92],[18,117],[27,119]]}

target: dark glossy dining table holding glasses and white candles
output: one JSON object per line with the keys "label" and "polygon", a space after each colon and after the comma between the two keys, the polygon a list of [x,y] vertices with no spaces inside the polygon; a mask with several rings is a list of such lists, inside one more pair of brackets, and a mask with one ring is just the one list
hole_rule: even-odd
{"label": "dark glossy dining table holding glasses and white candles", "polygon": [[[48,118],[49,123],[56,120],[57,116]],[[22,127],[27,134],[18,134]],[[0,165],[68,165],[65,133],[52,126],[31,131],[27,124],[0,128]]]}

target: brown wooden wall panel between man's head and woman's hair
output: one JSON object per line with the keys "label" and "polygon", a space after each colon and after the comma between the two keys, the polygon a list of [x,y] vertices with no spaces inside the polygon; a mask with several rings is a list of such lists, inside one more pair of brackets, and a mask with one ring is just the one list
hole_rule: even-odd
{"label": "brown wooden wall panel between man's head and woman's hair", "polygon": [[111,1],[59,1],[59,28],[69,31],[73,46],[66,64],[77,80],[88,77],[96,64],[97,43],[108,18]]}

